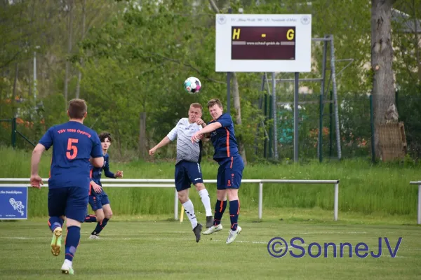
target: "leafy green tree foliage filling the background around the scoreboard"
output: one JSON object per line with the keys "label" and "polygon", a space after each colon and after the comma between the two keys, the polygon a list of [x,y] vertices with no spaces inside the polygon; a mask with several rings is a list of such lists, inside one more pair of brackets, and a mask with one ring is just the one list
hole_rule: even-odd
{"label": "leafy green tree foliage filling the background around the scoreboard", "polygon": [[[10,5],[0,2],[0,15],[3,25],[0,35],[4,48],[0,50],[0,115],[11,118],[18,111],[25,121],[40,123],[46,127],[65,120],[65,101],[60,98],[65,85],[64,66],[67,59],[72,62],[69,70],[69,99],[75,96],[78,80],[77,71],[81,70],[81,98],[89,106],[86,124],[93,129],[107,130],[114,134],[117,151],[138,150],[140,132],[140,113],[146,112],[147,146],[153,146],[166,136],[178,119],[187,116],[192,102],[206,102],[214,97],[227,104],[226,74],[215,72],[215,13],[207,0],[163,0],[163,1],[74,1],[72,21],[72,51],[67,53],[69,36],[69,11],[66,1],[39,0],[15,1]],[[38,2],[37,2],[38,3]],[[335,43],[335,66],[338,73],[338,93],[341,100],[349,100],[340,108],[340,125],[343,127],[341,138],[349,143],[350,132],[356,138],[366,139],[370,119],[367,114],[368,101],[354,102],[370,92],[372,71],[370,70],[370,1],[215,1],[220,13],[311,13],[312,37],[332,34]],[[404,22],[394,22],[394,71],[396,85],[403,95],[419,94],[419,73],[417,73],[417,53],[419,48],[415,34],[399,32],[401,25],[412,22],[418,17],[420,1],[403,3],[396,1],[396,8],[408,13]],[[86,13],[86,34],[81,34],[83,10]],[[35,16],[36,15],[36,16]],[[396,31],[395,31],[396,30]],[[83,38],[83,39],[82,39]],[[37,103],[42,102],[38,112],[34,111],[33,64],[34,47],[37,57]],[[313,71],[300,73],[300,78],[320,78],[323,43],[312,43]],[[328,48],[328,52],[330,49]],[[18,56],[14,56],[18,53]],[[349,61],[341,59],[353,59]],[[83,62],[83,63],[81,63]],[[326,73],[326,92],[332,83],[330,61]],[[17,66],[17,68],[16,68]],[[347,66],[345,70],[342,69]],[[15,71],[18,69],[18,71]],[[418,71],[419,72],[419,71]],[[262,73],[236,73],[241,96],[242,125],[236,125],[236,137],[241,139],[247,151],[248,161],[262,157],[266,133],[272,128],[272,120],[265,120],[259,109],[267,91],[260,91]],[[13,95],[16,79],[16,94],[23,97],[20,103],[8,106],[4,100]],[[200,94],[187,94],[182,89],[185,78],[196,76],[203,85]],[[293,78],[292,73],[278,73],[278,78]],[[300,83],[307,86],[316,102],[307,106],[306,118],[300,122],[300,151],[304,156],[316,156],[314,133],[319,129],[320,83]],[[280,88],[281,87],[281,88]],[[277,100],[292,102],[293,87],[288,83],[278,83]],[[309,94],[311,95],[311,94]],[[300,97],[305,99],[307,97]],[[325,100],[328,97],[325,96]],[[361,100],[366,100],[361,97]],[[236,115],[233,101],[231,110]],[[37,104],[41,105],[41,104]],[[403,106],[400,102],[399,106]],[[413,106],[406,106],[415,110]],[[16,110],[15,110],[16,109]],[[19,109],[19,110],[18,110]],[[281,109],[280,106],[278,109]],[[310,112],[311,111],[311,112]],[[281,112],[282,113],[282,112]],[[285,113],[285,112],[284,112]],[[292,114],[292,112],[290,112]],[[329,125],[326,117],[328,104],[323,111],[323,130]],[[412,111],[399,112],[402,120],[414,122]],[[40,118],[41,120],[38,120]],[[203,119],[210,116],[203,109]],[[280,139],[283,133],[292,133],[290,120],[279,120]],[[262,126],[265,123],[265,127]],[[408,123],[411,130],[418,130],[417,123]],[[266,132],[265,132],[266,131]],[[27,137],[36,141],[39,133],[28,130]],[[358,135],[357,135],[358,134]],[[324,135],[324,134],[323,134]],[[324,135],[323,145],[327,145],[329,135]],[[10,137],[4,138],[8,143]],[[408,137],[408,141],[417,137]],[[335,142],[335,139],[334,141]],[[344,147],[345,148],[345,142]],[[279,142],[281,143],[281,141]],[[355,143],[355,142],[354,142]],[[290,157],[289,144],[279,147],[279,153]],[[323,146],[326,150],[328,146]],[[349,155],[356,155],[349,147]],[[212,148],[206,145],[206,154]],[[368,153],[368,152],[367,152]],[[348,153],[346,153],[348,154]],[[136,153],[133,153],[136,155]],[[173,146],[161,153],[173,157]],[[344,153],[345,155],[345,153]],[[301,155],[300,155],[301,158]]]}

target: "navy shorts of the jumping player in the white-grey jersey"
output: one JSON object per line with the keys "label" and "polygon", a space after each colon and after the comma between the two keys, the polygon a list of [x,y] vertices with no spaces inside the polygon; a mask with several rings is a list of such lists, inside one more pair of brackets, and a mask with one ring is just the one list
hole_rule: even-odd
{"label": "navy shorts of the jumping player in the white-grey jersey", "polygon": [[200,163],[181,161],[175,165],[175,189],[180,192],[190,188],[190,185],[203,183]]}

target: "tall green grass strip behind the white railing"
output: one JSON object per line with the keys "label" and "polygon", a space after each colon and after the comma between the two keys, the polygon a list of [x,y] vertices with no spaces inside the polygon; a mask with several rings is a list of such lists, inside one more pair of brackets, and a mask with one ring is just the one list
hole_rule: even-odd
{"label": "tall green grass strip behind the white railing", "polygon": [[[0,177],[29,178],[30,153],[13,151],[0,146]],[[174,161],[114,162],[110,155],[112,171],[123,170],[124,179],[173,179]],[[40,175],[48,179],[51,151],[41,160]],[[218,165],[203,160],[204,179],[216,179]],[[419,166],[371,165],[368,160],[344,160],[342,162],[312,162],[302,165],[248,165],[243,179],[340,179],[340,216],[347,212],[362,215],[408,216],[416,221],[417,186],[410,181],[421,179]],[[118,180],[118,179],[117,179]],[[215,184],[207,184],[212,204],[215,203]],[[174,195],[168,188],[105,188],[110,197],[114,214],[144,215],[171,214]],[[258,184],[243,184],[240,190],[241,208],[258,209]],[[320,208],[333,210],[333,185],[270,184],[263,190],[264,209],[272,208]],[[199,204],[198,195],[192,202]],[[47,190],[29,190],[29,216],[46,216]]]}

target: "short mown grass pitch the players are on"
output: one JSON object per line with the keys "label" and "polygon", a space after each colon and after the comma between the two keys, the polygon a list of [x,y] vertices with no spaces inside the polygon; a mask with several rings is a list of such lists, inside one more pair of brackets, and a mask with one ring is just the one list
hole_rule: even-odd
{"label": "short mown grass pitch the players are on", "polygon": [[[291,210],[292,211],[292,210]],[[288,215],[283,211],[281,216]],[[274,214],[274,213],[272,213]],[[327,214],[327,213],[325,213]],[[307,216],[298,213],[297,217]],[[323,215],[321,217],[324,218]],[[204,215],[199,215],[203,221]],[[202,235],[197,244],[189,221],[166,221],[166,216],[119,217],[110,221],[102,239],[89,240],[94,223],[84,223],[81,242],[74,258],[75,279],[419,279],[421,273],[420,227],[413,225],[379,225],[308,219],[269,218],[253,223],[249,213],[240,216],[243,232],[233,244],[225,244],[229,217],[225,229],[214,235]],[[54,257],[50,252],[51,232],[46,220],[0,223],[1,279],[58,279],[64,254]],[[303,258],[287,254],[273,258],[267,243],[273,237],[302,237],[306,250]],[[368,251],[378,253],[378,237],[387,237],[392,251],[402,237],[396,258],[385,242],[380,258],[358,258],[348,247],[340,258],[312,258],[308,245],[318,242],[359,242]],[[279,250],[280,246],[276,246]],[[293,253],[301,253],[293,249]],[[317,248],[312,248],[317,253]]]}

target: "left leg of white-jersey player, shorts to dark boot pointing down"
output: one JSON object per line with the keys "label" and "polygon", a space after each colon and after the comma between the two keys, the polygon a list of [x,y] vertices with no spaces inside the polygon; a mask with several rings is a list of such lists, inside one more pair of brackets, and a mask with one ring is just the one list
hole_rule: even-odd
{"label": "left leg of white-jersey player, shorts to dark boot pointing down", "polygon": [[182,203],[186,216],[189,218],[189,221],[192,224],[196,242],[199,242],[202,225],[197,222],[196,214],[194,213],[193,202],[189,199],[189,188],[191,182],[185,165],[187,165],[186,162],[179,162],[178,165],[175,165],[175,189],[178,193],[178,200],[180,200],[180,203]]}

